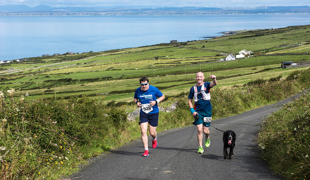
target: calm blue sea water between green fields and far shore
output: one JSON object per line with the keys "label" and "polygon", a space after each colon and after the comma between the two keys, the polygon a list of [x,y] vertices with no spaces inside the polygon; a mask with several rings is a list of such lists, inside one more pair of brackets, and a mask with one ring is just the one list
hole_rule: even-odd
{"label": "calm blue sea water between green fields and far shore", "polygon": [[186,42],[243,29],[310,24],[310,14],[0,16],[0,61]]}

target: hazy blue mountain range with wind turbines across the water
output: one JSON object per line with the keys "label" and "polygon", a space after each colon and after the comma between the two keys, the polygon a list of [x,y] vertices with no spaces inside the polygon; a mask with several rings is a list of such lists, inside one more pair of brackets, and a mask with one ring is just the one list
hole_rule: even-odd
{"label": "hazy blue mountain range with wind turbines across the water", "polygon": [[151,6],[100,6],[100,7],[51,7],[40,5],[28,7],[26,5],[2,5],[1,13],[50,13],[50,12],[89,12],[89,13],[118,13],[118,14],[174,14],[174,13],[310,13],[309,6],[260,6],[245,7],[151,7]]}

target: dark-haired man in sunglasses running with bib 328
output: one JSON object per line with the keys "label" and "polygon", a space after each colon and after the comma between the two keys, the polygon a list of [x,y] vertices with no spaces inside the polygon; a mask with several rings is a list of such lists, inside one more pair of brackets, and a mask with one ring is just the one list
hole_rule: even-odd
{"label": "dark-haired man in sunglasses running with bib 328", "polygon": [[153,137],[152,147],[157,147],[158,124],[158,103],[165,99],[165,96],[156,87],[149,85],[148,78],[143,76],[140,78],[140,87],[135,90],[134,102],[140,109],[141,140],[144,146],[143,156],[148,156],[148,124],[149,132]]}

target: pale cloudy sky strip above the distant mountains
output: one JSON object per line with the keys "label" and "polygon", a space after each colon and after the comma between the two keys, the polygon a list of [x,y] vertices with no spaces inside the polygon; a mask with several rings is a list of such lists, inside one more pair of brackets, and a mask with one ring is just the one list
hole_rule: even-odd
{"label": "pale cloudy sky strip above the distant mountains", "polygon": [[310,6],[309,0],[0,0],[1,5],[27,5],[35,7],[80,6],[154,6],[154,7],[258,7],[258,6]]}

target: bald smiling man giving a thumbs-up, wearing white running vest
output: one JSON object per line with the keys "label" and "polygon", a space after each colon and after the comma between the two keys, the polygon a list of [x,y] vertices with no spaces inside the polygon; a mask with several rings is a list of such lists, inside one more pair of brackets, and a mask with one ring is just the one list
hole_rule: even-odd
{"label": "bald smiling man giving a thumbs-up, wearing white running vest", "polygon": [[[202,147],[202,132],[206,135],[205,145],[210,146],[209,127],[212,119],[212,106],[210,102],[210,88],[214,87],[216,82],[215,75],[209,75],[212,83],[203,82],[205,76],[202,72],[196,74],[197,83],[189,90],[188,105],[192,115],[195,118],[194,125],[197,126],[198,152],[203,153]],[[193,106],[194,99],[194,106]]]}

